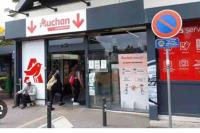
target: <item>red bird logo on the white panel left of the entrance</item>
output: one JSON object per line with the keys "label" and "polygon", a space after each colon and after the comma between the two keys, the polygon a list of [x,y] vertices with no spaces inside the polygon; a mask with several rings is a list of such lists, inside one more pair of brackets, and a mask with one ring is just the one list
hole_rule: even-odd
{"label": "red bird logo on the white panel left of the entrance", "polygon": [[31,58],[27,70],[24,71],[24,73],[26,74],[24,78],[24,83],[30,80],[30,78],[33,78],[35,83],[43,83],[43,78],[41,75],[41,66],[42,64],[37,62],[36,58]]}

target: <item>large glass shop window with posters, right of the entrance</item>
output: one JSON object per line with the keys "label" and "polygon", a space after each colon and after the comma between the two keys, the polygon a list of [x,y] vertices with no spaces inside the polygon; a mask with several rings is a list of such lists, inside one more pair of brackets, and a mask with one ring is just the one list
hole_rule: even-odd
{"label": "large glass shop window with posters, right of the entrance", "polygon": [[89,39],[89,93],[92,107],[147,110],[146,32],[126,32]]}

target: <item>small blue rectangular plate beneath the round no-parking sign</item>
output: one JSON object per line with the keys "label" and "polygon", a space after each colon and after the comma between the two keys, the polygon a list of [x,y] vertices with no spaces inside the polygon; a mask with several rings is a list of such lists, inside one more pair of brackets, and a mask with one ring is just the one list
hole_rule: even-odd
{"label": "small blue rectangular plate beneath the round no-parking sign", "polygon": [[178,38],[156,39],[156,41],[155,41],[156,48],[179,47],[179,44],[180,44],[180,41]]}

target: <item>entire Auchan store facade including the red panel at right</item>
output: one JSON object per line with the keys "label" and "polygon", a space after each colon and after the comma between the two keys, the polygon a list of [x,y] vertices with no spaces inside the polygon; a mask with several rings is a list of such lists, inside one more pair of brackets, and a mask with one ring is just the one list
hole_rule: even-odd
{"label": "entire Auchan store facade including the red panel at right", "polygon": [[[31,79],[39,89],[38,101],[44,104],[50,69],[59,66],[64,83],[68,67],[78,63],[84,73],[83,99],[88,107],[101,107],[106,97],[113,110],[167,114],[164,52],[154,47],[156,37],[150,23],[158,11],[173,9],[184,20],[182,33],[177,35],[181,46],[193,46],[187,52],[174,50],[176,58],[171,55],[172,62],[181,61],[172,66],[172,110],[177,115],[199,115],[198,50],[193,55],[198,49],[199,24],[192,22],[200,18],[195,14],[198,5],[147,8],[142,0],[135,0],[7,22],[6,38],[16,40],[15,83],[18,78],[23,84]],[[197,66],[188,65],[191,60]],[[28,70],[35,64],[40,73],[34,77]]]}

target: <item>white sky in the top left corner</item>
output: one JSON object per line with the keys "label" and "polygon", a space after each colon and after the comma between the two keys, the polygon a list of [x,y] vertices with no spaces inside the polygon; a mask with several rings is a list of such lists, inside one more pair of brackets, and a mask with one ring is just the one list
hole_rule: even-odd
{"label": "white sky in the top left corner", "polygon": [[12,20],[11,17],[7,16],[4,12],[5,8],[15,9],[15,3],[12,3],[12,0],[3,0],[0,4],[0,26],[5,25],[5,21]]}

